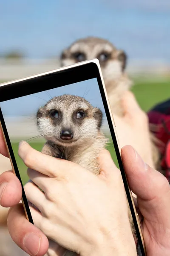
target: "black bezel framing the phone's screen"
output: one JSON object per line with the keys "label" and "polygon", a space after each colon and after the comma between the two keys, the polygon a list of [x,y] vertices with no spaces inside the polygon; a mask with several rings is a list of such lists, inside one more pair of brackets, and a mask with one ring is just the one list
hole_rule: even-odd
{"label": "black bezel framing the phone's screen", "polygon": [[[81,82],[81,81],[85,81],[85,80],[93,79],[93,78],[96,78],[98,81],[98,84],[99,84],[99,90],[100,90],[103,105],[105,108],[105,113],[106,113],[106,116],[108,119],[108,125],[109,125],[110,131],[111,131],[113,145],[114,145],[114,148],[116,151],[116,157],[117,157],[117,160],[119,163],[119,169],[121,171],[127,199],[128,199],[130,210],[131,210],[132,217],[133,217],[133,222],[134,222],[134,225],[136,228],[136,235],[139,240],[139,245],[141,248],[142,256],[145,256],[144,247],[142,244],[142,239],[141,239],[139,227],[137,224],[135,211],[133,209],[133,203],[132,203],[131,197],[130,197],[130,192],[129,192],[129,188],[128,188],[128,184],[127,184],[125,170],[124,170],[121,155],[119,152],[119,146],[118,146],[118,143],[116,140],[116,135],[115,135],[115,132],[113,129],[113,124],[111,121],[111,116],[110,116],[110,112],[108,109],[108,104],[107,104],[107,100],[105,97],[105,92],[103,89],[102,80],[101,80],[101,76],[100,76],[99,68],[98,68],[97,64],[94,62],[89,62],[87,64],[69,67],[65,70],[54,71],[52,73],[42,74],[42,75],[40,74],[33,78],[28,78],[28,79],[24,79],[22,81],[16,81],[11,84],[3,85],[0,87],[0,102],[4,102],[4,101],[10,100],[10,99],[19,98],[19,97],[30,95],[33,93],[38,93],[38,92],[42,92],[45,90],[50,90],[53,88],[62,87],[64,85],[73,84],[73,83],[77,83],[77,82]],[[4,135],[6,138],[6,143],[8,145],[8,150],[9,150],[11,160],[12,160],[12,163],[14,166],[15,174],[19,178],[21,185],[22,185],[23,202],[25,204],[28,219],[32,224],[34,224],[32,216],[31,216],[31,212],[30,212],[30,209],[28,206],[26,194],[23,189],[22,180],[20,177],[19,170],[17,168],[17,163],[16,163],[16,160],[14,157],[14,153],[12,150],[11,142],[10,142],[10,139],[8,136],[8,132],[6,129],[6,125],[5,125],[5,122],[3,119],[3,114],[2,114],[1,109],[0,109],[0,122],[1,122],[3,132],[4,132]]]}

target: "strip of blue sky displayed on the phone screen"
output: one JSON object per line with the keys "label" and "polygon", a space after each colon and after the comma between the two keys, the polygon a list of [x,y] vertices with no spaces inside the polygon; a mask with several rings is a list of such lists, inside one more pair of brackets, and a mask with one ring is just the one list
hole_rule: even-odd
{"label": "strip of blue sky displayed on the phone screen", "polygon": [[0,107],[4,116],[35,117],[40,106],[45,105],[51,97],[62,94],[84,97],[91,105],[100,108],[105,113],[96,78],[1,102]]}

